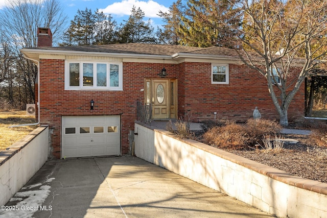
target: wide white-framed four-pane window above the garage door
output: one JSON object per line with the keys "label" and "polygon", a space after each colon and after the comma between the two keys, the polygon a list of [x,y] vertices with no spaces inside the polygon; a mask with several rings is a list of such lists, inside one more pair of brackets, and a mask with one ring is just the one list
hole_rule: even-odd
{"label": "wide white-framed four-pane window above the garage door", "polygon": [[66,61],[65,90],[122,90],[122,63]]}

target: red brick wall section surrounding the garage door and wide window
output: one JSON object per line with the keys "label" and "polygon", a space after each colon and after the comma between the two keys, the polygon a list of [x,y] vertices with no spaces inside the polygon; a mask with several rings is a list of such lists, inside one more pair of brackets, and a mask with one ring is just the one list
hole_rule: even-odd
{"label": "red brick wall section surrounding the garage door and wide window", "polygon": [[[144,101],[144,79],[160,78],[163,64],[123,63],[123,91],[64,90],[64,60],[40,60],[40,123],[53,129],[53,155],[60,158],[61,116],[121,114],[122,154],[128,154],[129,130],[134,130],[136,101]],[[169,76],[177,77],[176,65],[165,64]],[[90,100],[95,101],[90,110]]]}

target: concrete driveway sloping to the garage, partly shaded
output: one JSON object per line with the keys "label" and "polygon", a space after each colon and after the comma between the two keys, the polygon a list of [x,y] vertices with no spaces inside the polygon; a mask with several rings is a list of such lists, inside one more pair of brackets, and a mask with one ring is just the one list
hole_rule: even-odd
{"label": "concrete driveway sloping to the garage, partly shaded", "polygon": [[0,217],[272,217],[137,157],[48,161],[7,205]]}

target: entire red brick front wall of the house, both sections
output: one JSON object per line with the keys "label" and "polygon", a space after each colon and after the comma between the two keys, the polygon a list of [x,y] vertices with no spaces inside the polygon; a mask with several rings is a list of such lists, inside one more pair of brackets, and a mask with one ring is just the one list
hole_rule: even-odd
{"label": "entire red brick front wall of the house, both sections", "polygon": [[[144,79],[160,78],[162,67],[166,78],[178,79],[178,114],[192,113],[195,121],[232,118],[245,121],[258,106],[263,118],[277,119],[267,82],[258,72],[244,65],[229,65],[229,84],[211,84],[210,63],[123,63],[123,91],[64,90],[64,60],[40,60],[40,123],[53,130],[53,155],[60,158],[61,116],[121,114],[122,154],[128,154],[129,130],[134,129],[136,101],[144,102]],[[37,89],[36,89],[37,91]],[[37,93],[37,92],[36,92]],[[90,110],[90,100],[95,101]],[[289,108],[289,117],[303,115],[304,88],[299,90]]]}

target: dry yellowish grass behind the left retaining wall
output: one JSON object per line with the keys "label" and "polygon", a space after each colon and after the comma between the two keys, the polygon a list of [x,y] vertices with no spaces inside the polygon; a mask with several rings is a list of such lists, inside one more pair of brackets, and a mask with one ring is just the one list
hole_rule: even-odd
{"label": "dry yellowish grass behind the left retaining wall", "polygon": [[26,111],[0,111],[0,151],[26,136],[38,126],[9,128],[12,125],[33,124],[34,116],[27,116]]}

